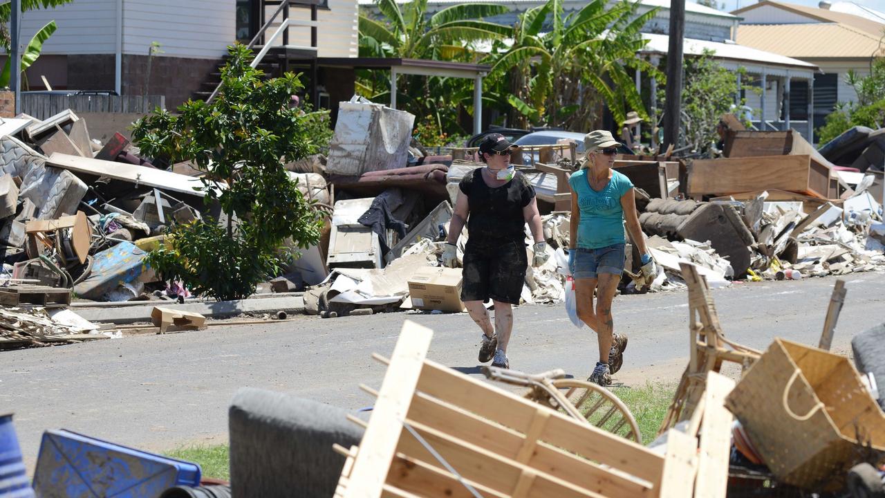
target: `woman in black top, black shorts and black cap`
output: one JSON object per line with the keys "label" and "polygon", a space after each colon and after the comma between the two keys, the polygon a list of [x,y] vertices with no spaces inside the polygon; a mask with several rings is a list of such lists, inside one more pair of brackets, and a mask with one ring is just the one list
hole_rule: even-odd
{"label": "woman in black top, black shorts and black cap", "polygon": [[[526,223],[535,239],[532,266],[541,266],[550,257],[535,189],[510,165],[514,147],[498,133],[483,139],[480,156],[486,167],[474,169],[458,185],[458,200],[443,252],[443,264],[455,268],[456,244],[466,222],[470,237],[464,248],[461,300],[482,331],[480,362],[492,360],[492,366],[505,369],[510,368],[506,352],[513,329],[512,305],[519,304],[528,264]],[[488,300],[495,305],[494,328],[483,306]]]}

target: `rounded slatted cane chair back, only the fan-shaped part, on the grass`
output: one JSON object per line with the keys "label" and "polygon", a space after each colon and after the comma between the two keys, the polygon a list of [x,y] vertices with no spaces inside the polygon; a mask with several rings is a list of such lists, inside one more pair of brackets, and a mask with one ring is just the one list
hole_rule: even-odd
{"label": "rounded slatted cane chair back, only the fan-shaped part, on the grass", "polygon": [[[590,425],[627,440],[643,444],[639,425],[630,409],[608,389],[584,380],[558,378],[551,381]],[[562,411],[566,411],[561,409]]]}

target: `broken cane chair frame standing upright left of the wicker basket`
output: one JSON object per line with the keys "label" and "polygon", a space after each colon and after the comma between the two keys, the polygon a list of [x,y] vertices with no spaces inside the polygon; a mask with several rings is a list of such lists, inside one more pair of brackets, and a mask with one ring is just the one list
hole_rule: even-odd
{"label": "broken cane chair frame standing upright left of the wicker basket", "polygon": [[725,338],[706,279],[694,265],[681,263],[682,278],[689,287],[689,364],[682,373],[673,402],[667,409],[658,434],[689,420],[703,405],[705,381],[710,372],[718,373],[722,362],[735,362],[746,370],[760,353]]}

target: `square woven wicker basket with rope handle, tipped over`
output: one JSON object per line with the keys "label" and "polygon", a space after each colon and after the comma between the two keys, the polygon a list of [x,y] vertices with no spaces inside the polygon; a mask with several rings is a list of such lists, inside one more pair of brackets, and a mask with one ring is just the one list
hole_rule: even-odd
{"label": "square woven wicker basket with rope handle, tipped over", "polygon": [[726,406],[772,473],[793,486],[839,489],[854,463],[885,455],[885,416],[838,354],[775,339]]}

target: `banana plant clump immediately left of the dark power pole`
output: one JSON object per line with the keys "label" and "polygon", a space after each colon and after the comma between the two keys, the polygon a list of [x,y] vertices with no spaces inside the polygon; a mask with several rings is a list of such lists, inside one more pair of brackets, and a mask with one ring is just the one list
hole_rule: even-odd
{"label": "banana plant clump immediately left of the dark power pole", "polygon": [[507,101],[530,123],[586,130],[598,126],[604,105],[616,121],[629,110],[647,117],[627,70],[664,75],[636,57],[646,43],[639,30],[657,12],[637,16],[637,5],[593,0],[567,16],[562,0],[529,9],[512,29],[512,45],[498,43],[503,50],[484,61],[493,65],[490,84],[503,81]]}

